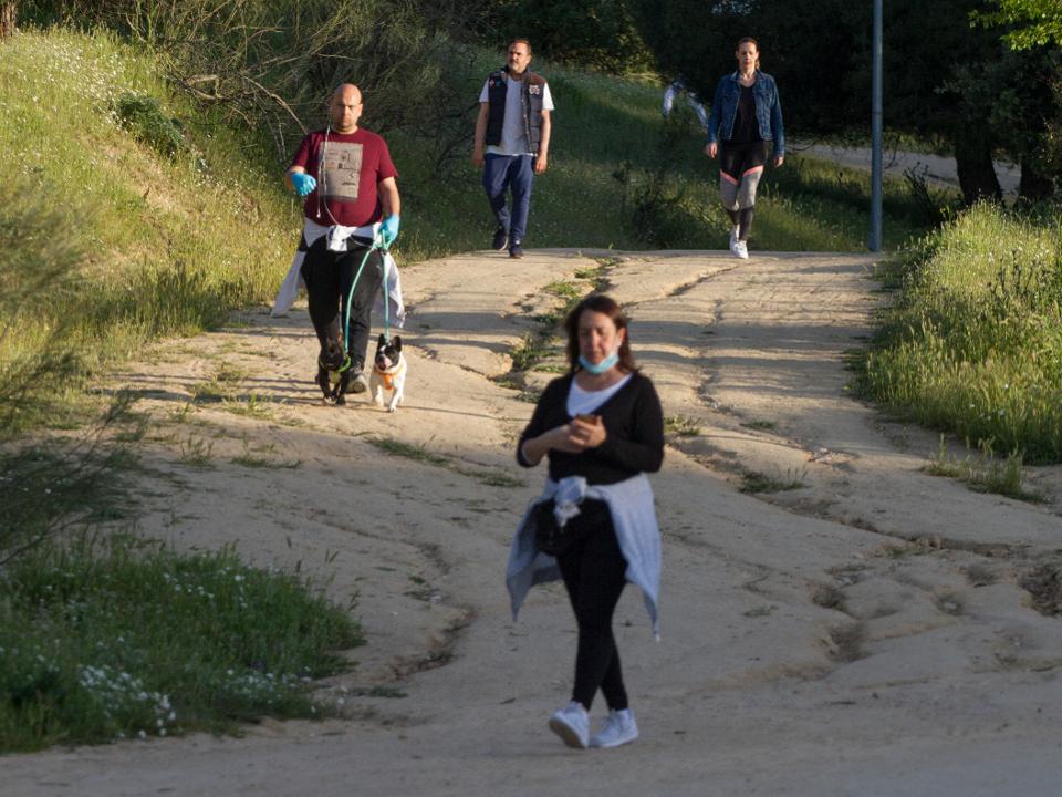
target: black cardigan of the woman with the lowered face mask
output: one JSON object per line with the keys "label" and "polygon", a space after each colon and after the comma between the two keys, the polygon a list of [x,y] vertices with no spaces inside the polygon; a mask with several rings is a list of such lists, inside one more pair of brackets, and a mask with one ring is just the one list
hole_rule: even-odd
{"label": "black cardigan of the woman with the lowered face mask", "polygon": [[[555,379],[546,385],[531,422],[517,444],[517,462],[523,458],[523,443],[555,426],[570,423],[568,393],[574,374]],[[638,372],[608,401],[594,410],[601,415],[607,436],[596,448],[581,454],[550,451],[550,478],[560,482],[565,476],[583,476],[589,484],[615,484],[639,473],[656,473],[664,460],[664,412],[656,389],[647,376]]]}

